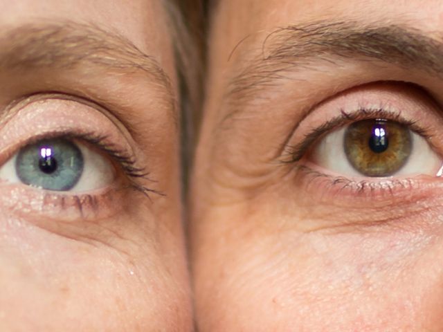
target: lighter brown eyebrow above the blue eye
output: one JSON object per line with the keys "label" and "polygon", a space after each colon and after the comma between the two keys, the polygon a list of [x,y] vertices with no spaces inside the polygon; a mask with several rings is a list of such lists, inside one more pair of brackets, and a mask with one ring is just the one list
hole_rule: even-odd
{"label": "lighter brown eyebrow above the blue eye", "polygon": [[126,37],[98,26],[55,22],[6,28],[0,33],[0,70],[80,65],[111,73],[143,73],[172,91],[170,78],[154,58]]}

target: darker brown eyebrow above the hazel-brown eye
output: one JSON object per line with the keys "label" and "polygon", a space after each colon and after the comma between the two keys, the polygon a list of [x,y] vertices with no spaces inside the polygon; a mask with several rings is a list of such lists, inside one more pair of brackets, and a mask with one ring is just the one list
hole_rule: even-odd
{"label": "darker brown eyebrow above the hazel-brown eye", "polygon": [[443,74],[443,44],[408,26],[356,21],[315,22],[279,28],[266,37],[262,54],[230,80],[228,100],[254,98],[284,73],[337,58],[377,59],[429,75]]}

